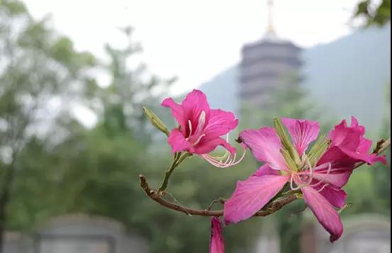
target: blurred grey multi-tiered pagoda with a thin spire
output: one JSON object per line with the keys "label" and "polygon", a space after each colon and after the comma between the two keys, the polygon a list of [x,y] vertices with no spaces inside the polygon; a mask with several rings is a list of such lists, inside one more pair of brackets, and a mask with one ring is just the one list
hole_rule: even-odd
{"label": "blurred grey multi-tiered pagoda with a thin spire", "polygon": [[284,77],[302,66],[301,48],[278,38],[273,28],[273,0],[268,0],[268,28],[256,43],[244,45],[240,64],[241,101],[258,108],[268,107],[269,94]]}

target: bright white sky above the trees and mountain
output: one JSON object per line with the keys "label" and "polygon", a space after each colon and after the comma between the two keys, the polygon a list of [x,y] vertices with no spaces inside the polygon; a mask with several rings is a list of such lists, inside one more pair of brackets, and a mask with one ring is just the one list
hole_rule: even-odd
{"label": "bright white sky above the trees and mountain", "polygon": [[[142,60],[160,77],[179,78],[175,93],[192,89],[239,61],[244,43],[267,26],[266,0],[25,0],[33,16],[49,13],[78,50],[104,55],[104,43],[124,45],[117,28],[131,25]],[[359,0],[276,0],[281,38],[310,47],[352,30]]]}

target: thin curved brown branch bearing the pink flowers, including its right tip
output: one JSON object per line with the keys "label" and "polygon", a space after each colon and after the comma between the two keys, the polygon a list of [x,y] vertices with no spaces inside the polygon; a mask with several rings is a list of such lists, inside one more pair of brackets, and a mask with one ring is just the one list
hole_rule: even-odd
{"label": "thin curved brown branch bearing the pink flowers, including its right tip", "polygon": [[[376,148],[374,149],[374,153],[382,154],[383,152],[388,150],[389,147],[391,147],[391,138],[389,138],[388,140],[380,140],[377,143]],[[358,163],[356,164],[355,167],[358,168],[364,164],[365,163]],[[151,190],[150,186],[148,186],[146,176],[139,175],[139,179],[140,179],[141,188],[146,192],[147,196],[150,197],[153,201],[156,201],[156,203],[159,203],[160,206],[164,206],[165,208],[169,208],[171,210],[175,210],[180,213],[185,213],[186,215],[212,216],[212,217],[223,216],[223,210],[209,210],[210,208],[193,209],[193,208],[187,208],[185,206],[180,206],[170,201],[166,201],[165,199],[162,198],[161,193]],[[283,198],[281,201],[273,202],[272,205],[267,208],[267,210],[258,211],[254,216],[265,217],[273,213],[276,213],[278,210],[281,210],[284,206],[288,205],[289,203],[292,203],[296,199],[297,196],[295,196],[295,194],[288,195],[287,197]],[[224,203],[223,200],[219,200],[219,202]]]}

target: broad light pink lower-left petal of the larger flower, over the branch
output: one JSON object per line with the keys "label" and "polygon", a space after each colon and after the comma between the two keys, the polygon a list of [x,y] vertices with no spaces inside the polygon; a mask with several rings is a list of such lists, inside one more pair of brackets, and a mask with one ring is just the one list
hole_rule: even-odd
{"label": "broad light pink lower-left petal of the larger flower, over the branch", "polygon": [[288,182],[288,176],[251,176],[239,181],[233,196],[224,203],[227,224],[239,223],[261,210]]}

